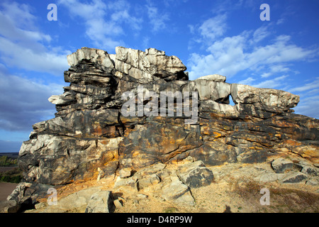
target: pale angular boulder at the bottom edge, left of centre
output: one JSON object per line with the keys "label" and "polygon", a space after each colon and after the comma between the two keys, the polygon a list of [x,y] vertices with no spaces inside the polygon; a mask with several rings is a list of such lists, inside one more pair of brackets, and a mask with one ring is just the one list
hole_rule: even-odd
{"label": "pale angular boulder at the bottom edge, left of centre", "polygon": [[96,192],[91,195],[85,213],[110,213],[113,206],[112,193],[109,191]]}

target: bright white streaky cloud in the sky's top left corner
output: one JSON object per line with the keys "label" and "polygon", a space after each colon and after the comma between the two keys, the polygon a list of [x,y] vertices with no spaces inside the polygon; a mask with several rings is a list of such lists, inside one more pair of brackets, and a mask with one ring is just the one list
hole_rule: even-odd
{"label": "bright white streaky cloud in the sky's top left corner", "polygon": [[6,65],[55,75],[67,70],[66,54],[70,52],[45,48],[43,43],[50,43],[52,38],[38,31],[29,6],[16,2],[0,5],[0,53]]}

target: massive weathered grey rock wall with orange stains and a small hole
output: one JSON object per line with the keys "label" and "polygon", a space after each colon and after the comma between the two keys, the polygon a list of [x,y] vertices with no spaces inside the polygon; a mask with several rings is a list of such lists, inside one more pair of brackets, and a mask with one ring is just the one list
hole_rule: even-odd
{"label": "massive weathered grey rock wall with orange stains and a small hole", "polygon": [[[23,182],[9,199],[36,200],[48,187],[80,179],[131,180],[149,165],[189,156],[199,165],[163,178],[166,199],[170,191],[189,196],[190,187],[209,184],[213,175],[203,165],[264,162],[295,153],[312,163],[305,172],[318,172],[319,120],[291,113],[299,96],[228,84],[217,74],[189,81],[178,57],[154,48],[118,47],[116,55],[82,48],[67,59],[70,84],[49,99],[55,118],[35,123],[23,142],[18,158]],[[162,105],[169,99],[176,102]],[[130,114],[124,114],[125,105]],[[133,184],[145,187],[162,178],[140,180]]]}

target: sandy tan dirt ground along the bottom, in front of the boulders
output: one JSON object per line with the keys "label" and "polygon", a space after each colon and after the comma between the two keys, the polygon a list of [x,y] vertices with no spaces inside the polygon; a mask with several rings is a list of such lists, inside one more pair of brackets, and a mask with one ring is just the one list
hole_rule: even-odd
{"label": "sandy tan dirt ground along the bottom, in front of the boulders", "polygon": [[[319,187],[299,184],[279,184],[279,182],[260,183],[252,177],[253,169],[264,171],[267,165],[228,165],[211,167],[216,178],[206,186],[191,189],[196,203],[194,206],[181,206],[173,201],[164,201],[154,193],[152,187],[140,191],[118,189],[101,180],[98,184],[112,191],[114,199],[121,201],[115,213],[264,213],[264,212],[319,212]],[[237,173],[240,172],[240,175]],[[261,172],[255,172],[259,175]],[[68,184],[58,189],[58,196],[77,192],[86,187],[97,186],[96,180]],[[262,205],[262,188],[269,189],[269,205]]]}

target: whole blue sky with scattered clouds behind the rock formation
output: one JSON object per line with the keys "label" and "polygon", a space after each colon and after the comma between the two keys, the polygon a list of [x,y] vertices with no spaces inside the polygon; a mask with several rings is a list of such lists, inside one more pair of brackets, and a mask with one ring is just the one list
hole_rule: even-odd
{"label": "whole blue sky with scattered clouds behind the rock formation", "polygon": [[[57,21],[48,21],[48,4]],[[270,21],[261,21],[261,4]],[[18,152],[32,125],[54,117],[47,99],[62,94],[66,55],[118,45],[176,55],[190,79],[301,96],[296,114],[319,118],[319,1],[122,0],[0,2],[0,152]]]}

